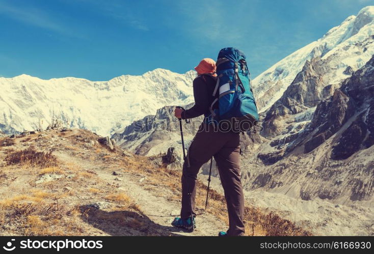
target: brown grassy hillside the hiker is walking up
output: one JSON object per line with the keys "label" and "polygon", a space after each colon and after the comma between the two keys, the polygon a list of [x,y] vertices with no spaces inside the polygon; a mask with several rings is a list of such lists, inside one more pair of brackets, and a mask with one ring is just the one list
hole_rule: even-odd
{"label": "brown grassy hillside the hiker is walking up", "polygon": [[[217,235],[224,197],[199,182],[198,228],[171,227],[180,171],[161,157],[132,155],[87,130],[49,130],[0,140],[1,235]],[[248,235],[308,235],[276,213],[246,207]]]}

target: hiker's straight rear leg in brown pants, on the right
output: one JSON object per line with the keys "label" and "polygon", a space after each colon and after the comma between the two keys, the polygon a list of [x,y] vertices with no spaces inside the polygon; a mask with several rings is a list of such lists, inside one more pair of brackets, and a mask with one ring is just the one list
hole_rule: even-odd
{"label": "hiker's straight rear leg in brown pants, on the right", "polygon": [[239,134],[229,135],[228,142],[215,154],[222,187],[225,191],[227,210],[229,215],[228,236],[242,236],[244,229],[244,193],[241,182]]}

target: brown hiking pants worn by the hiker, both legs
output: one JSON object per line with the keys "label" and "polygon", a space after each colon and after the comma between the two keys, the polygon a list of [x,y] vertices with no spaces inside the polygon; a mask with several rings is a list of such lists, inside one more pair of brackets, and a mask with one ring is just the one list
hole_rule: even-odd
{"label": "brown hiking pants worn by the hiker, both legs", "polygon": [[196,215],[197,174],[200,167],[214,156],[225,191],[229,215],[227,234],[229,236],[244,235],[244,194],[239,165],[239,141],[239,133],[221,132],[204,123],[200,126],[189,148],[188,159],[183,164],[181,218],[190,217],[191,212]]}

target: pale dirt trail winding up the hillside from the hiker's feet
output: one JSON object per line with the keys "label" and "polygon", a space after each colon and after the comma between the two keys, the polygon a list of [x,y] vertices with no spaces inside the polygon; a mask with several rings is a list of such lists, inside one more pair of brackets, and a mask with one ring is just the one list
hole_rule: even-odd
{"label": "pale dirt trail winding up the hillside from the hiker's feet", "polygon": [[[216,236],[218,232],[226,230],[226,225],[212,216],[211,214],[205,213],[204,211],[198,211],[196,218],[197,228],[194,232],[188,233],[182,230],[176,229],[171,226],[171,221],[174,217],[179,216],[180,203],[170,201],[164,196],[157,195],[157,192],[167,191],[158,189],[157,191],[149,191],[145,189],[147,179],[144,176],[131,173],[120,173],[119,176],[113,175],[113,168],[104,164],[92,163],[90,161],[83,160],[78,157],[73,157],[64,152],[54,153],[58,158],[63,161],[69,161],[76,163],[86,170],[91,170],[97,173],[98,177],[109,184],[119,184],[118,190],[123,190],[126,194],[132,197],[140,206],[144,215],[146,215],[155,224],[160,225],[160,230],[167,230],[172,235],[181,236]],[[120,178],[121,181],[116,181],[116,178]],[[145,184],[140,185],[143,182]],[[199,214],[201,213],[201,214]]]}

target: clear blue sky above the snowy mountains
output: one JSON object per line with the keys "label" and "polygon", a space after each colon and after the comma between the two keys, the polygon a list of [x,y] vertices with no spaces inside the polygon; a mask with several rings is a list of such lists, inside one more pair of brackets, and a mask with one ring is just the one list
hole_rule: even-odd
{"label": "clear blue sky above the snowy mountains", "polygon": [[252,78],[374,0],[0,0],[0,76],[184,73],[227,46]]}

